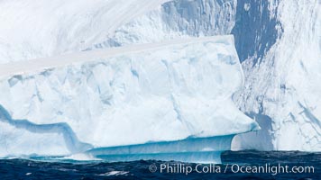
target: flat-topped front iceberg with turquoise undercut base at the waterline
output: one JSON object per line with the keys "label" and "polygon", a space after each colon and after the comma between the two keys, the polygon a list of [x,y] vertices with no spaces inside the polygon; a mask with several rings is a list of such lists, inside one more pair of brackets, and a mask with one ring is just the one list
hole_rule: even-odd
{"label": "flat-topped front iceberg with turquoise undercut base at the waterline", "polygon": [[235,134],[259,130],[232,100],[231,35],[12,62],[0,79],[1,157],[220,162]]}

